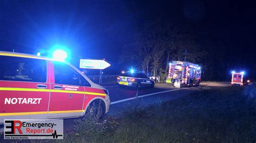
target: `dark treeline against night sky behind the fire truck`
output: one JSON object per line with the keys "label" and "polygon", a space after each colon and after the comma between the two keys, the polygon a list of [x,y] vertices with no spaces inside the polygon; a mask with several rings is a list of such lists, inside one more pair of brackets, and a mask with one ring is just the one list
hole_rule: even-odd
{"label": "dark treeline against night sky behind the fire truck", "polygon": [[171,61],[184,61],[186,53],[186,61],[201,66],[204,80],[225,81],[230,79],[231,68],[225,62],[226,46],[225,39],[195,31],[192,25],[150,21],[125,45],[119,61],[158,76],[168,73]]}

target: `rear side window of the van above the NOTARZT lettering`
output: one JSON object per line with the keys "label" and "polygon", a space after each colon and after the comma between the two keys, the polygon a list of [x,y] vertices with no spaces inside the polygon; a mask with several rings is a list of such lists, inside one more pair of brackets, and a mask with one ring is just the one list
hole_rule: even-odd
{"label": "rear side window of the van above the NOTARZT lettering", "polygon": [[46,82],[46,61],[15,56],[0,56],[0,80]]}

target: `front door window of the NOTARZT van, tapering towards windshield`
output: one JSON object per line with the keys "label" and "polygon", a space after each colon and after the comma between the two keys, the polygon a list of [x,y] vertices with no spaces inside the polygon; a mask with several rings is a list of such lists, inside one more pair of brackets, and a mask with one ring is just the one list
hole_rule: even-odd
{"label": "front door window of the NOTARZT van, tapering towards windshield", "polygon": [[56,84],[91,87],[90,83],[82,75],[65,63],[55,61],[53,65]]}

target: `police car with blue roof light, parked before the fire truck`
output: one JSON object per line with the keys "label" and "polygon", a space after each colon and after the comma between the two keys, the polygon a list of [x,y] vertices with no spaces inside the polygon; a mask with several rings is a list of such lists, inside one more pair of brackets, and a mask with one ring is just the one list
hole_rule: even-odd
{"label": "police car with blue roof light, parked before the fire truck", "polygon": [[123,71],[122,74],[117,77],[117,82],[119,85],[126,85],[138,89],[142,87],[154,87],[153,80],[147,77],[144,73],[134,70]]}

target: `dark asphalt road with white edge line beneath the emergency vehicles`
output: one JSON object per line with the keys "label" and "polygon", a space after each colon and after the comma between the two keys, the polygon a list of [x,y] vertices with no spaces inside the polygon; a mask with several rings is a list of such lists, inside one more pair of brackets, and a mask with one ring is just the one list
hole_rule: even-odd
{"label": "dark asphalt road with white edge line beneath the emergency vehicles", "polygon": [[[226,82],[205,82],[199,87],[174,88],[171,84],[156,84],[154,88],[142,88],[140,90],[119,85],[105,87],[109,90],[111,106],[107,116],[118,116],[129,106],[147,106],[153,103],[170,101],[202,90],[210,90],[219,87],[230,86]],[[64,131],[72,130],[74,119],[64,119]]]}

